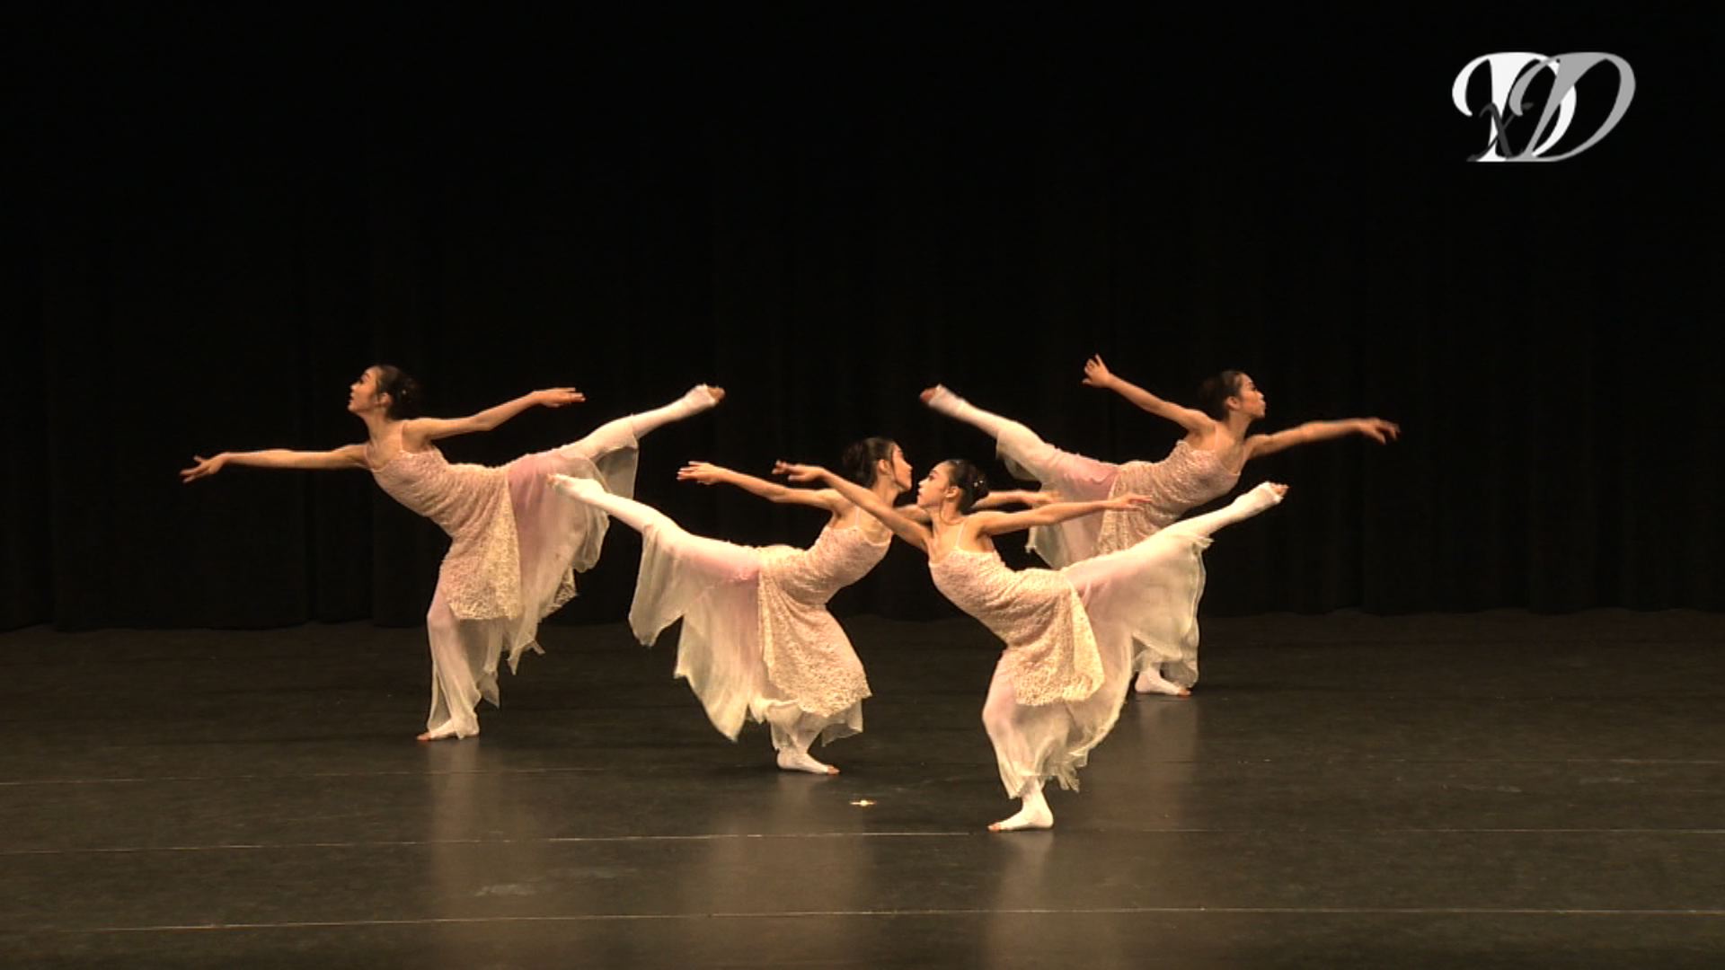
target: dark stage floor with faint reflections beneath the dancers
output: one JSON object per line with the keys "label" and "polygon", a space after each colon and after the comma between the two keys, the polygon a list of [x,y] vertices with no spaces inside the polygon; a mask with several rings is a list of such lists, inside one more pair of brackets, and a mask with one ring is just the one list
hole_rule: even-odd
{"label": "dark stage floor with faint reflections beneath the dancers", "polygon": [[[1206,625],[1056,830],[968,620],[847,621],[835,778],[728,744],[621,627],[552,627],[423,746],[419,630],[0,637],[16,967],[1711,967],[1725,616]],[[871,804],[869,804],[871,803]]]}

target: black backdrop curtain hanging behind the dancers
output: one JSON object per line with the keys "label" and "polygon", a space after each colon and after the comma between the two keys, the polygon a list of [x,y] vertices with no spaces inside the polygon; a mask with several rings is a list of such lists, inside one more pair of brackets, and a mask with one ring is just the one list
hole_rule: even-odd
{"label": "black backdrop curtain hanging behind the dancers", "polygon": [[[1173,426],[1078,385],[1092,352],[1176,400],[1242,368],[1263,430],[1404,426],[1254,463],[1294,492],[1208,554],[1213,614],[1725,606],[1720,16],[1271,17],[16,16],[0,625],[419,621],[445,540],[364,473],[176,476],[361,440],[378,361],[442,414],[588,394],[447,442],[481,463],[724,385],[638,495],[804,544],[818,516],[674,468],[992,457],[935,381],[1161,457]],[[1618,54],[1634,104],[1566,162],[1466,164],[1449,85],[1496,50]],[[621,618],[637,549],[612,530],[562,616]],[[949,611],[907,549],[838,608]]]}

